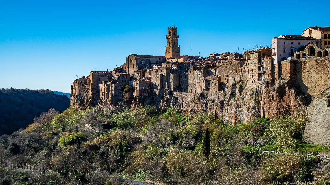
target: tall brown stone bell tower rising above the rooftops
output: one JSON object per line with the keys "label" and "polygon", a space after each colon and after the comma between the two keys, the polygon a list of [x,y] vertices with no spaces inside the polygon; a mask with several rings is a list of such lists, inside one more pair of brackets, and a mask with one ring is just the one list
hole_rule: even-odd
{"label": "tall brown stone bell tower rising above the rooftops", "polygon": [[165,57],[177,57],[180,56],[180,45],[178,46],[179,35],[177,35],[176,27],[168,28],[168,35],[166,35],[167,46],[165,46]]}

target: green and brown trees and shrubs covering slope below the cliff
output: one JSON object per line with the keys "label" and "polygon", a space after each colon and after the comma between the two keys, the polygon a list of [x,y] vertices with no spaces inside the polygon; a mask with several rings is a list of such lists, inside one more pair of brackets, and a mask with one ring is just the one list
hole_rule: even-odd
{"label": "green and brown trees and shrubs covering slope below the cliff", "polygon": [[[330,180],[328,160],[278,155],[329,152],[302,141],[306,119],[259,118],[225,125],[212,113],[181,115],[154,106],[113,111],[73,107],[42,113],[25,129],[0,138],[0,184],[242,184]],[[49,172],[56,174],[49,174]]]}

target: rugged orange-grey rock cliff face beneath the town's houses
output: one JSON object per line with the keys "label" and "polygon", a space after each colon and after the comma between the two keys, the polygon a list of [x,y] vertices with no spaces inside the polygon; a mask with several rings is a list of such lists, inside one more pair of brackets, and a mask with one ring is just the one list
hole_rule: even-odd
{"label": "rugged orange-grey rock cliff face beneath the town's houses", "polygon": [[[224,123],[251,123],[259,117],[280,117],[290,114],[306,114],[309,101],[299,91],[281,80],[274,86],[263,84],[253,88],[246,81],[236,81],[229,91],[201,93],[173,92],[170,90],[146,89],[139,96],[125,95],[125,100],[116,97],[98,106],[119,110],[135,109],[140,104],[155,105],[157,110],[166,111],[173,108],[182,114],[212,112]],[[86,108],[83,97],[73,99],[76,106]]]}

